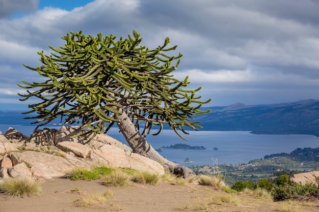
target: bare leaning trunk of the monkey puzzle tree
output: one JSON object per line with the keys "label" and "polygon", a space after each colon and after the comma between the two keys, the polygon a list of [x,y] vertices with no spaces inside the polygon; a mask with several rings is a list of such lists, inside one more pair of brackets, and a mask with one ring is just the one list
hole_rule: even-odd
{"label": "bare leaning trunk of the monkey puzzle tree", "polygon": [[133,149],[134,153],[137,153],[146,158],[152,159],[162,163],[171,173],[188,178],[189,174],[195,174],[191,169],[178,166],[163,156],[159,155],[157,151],[146,141],[141,133],[135,128],[127,114],[123,111],[121,115],[116,115],[116,119],[120,120],[117,125],[125,137],[125,140]]}

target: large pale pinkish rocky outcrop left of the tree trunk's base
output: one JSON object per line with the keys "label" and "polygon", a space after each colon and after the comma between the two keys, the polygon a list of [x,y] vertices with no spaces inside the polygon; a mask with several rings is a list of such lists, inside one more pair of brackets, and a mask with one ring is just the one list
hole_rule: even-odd
{"label": "large pale pinkish rocky outcrop left of the tree trunk's base", "polygon": [[[159,174],[159,163],[132,153],[127,145],[108,135],[72,138],[77,131],[71,127],[36,130],[29,137],[10,129],[0,134],[0,177],[33,175],[43,178],[62,177],[74,167],[111,165],[148,170]],[[25,139],[25,140],[23,140]]]}

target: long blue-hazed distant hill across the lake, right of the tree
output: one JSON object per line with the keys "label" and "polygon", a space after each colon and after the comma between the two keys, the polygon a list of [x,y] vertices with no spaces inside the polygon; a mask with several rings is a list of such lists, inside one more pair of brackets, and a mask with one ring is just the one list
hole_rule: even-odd
{"label": "long blue-hazed distant hill across the lake, right of the tree", "polygon": [[319,100],[270,105],[236,103],[197,115],[203,130],[251,131],[254,134],[308,134],[319,136]]}

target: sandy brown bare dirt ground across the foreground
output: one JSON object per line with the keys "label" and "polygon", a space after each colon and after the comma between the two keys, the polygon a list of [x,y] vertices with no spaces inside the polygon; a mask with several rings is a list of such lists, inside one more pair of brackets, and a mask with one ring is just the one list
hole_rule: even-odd
{"label": "sandy brown bare dirt ground across the foreground", "polygon": [[[75,191],[74,191],[75,190]],[[113,193],[107,202],[78,206],[80,198],[91,194]],[[102,180],[69,180],[54,178],[42,184],[42,195],[33,197],[8,197],[0,194],[0,212],[61,212],[61,211],[319,211],[319,201],[274,202],[244,194],[228,194],[199,185],[157,186],[135,184],[128,187],[106,187]],[[214,202],[224,196],[236,203]],[[285,208],[285,209],[284,209]]]}

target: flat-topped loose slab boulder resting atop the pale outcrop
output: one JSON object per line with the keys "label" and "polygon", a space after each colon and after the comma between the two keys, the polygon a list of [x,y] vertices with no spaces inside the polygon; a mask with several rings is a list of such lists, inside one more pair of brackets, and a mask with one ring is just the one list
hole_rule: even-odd
{"label": "flat-topped loose slab boulder resting atop the pale outcrop", "polygon": [[62,141],[57,144],[57,147],[63,152],[72,152],[80,158],[86,158],[90,154],[90,148],[87,146],[72,141]]}

